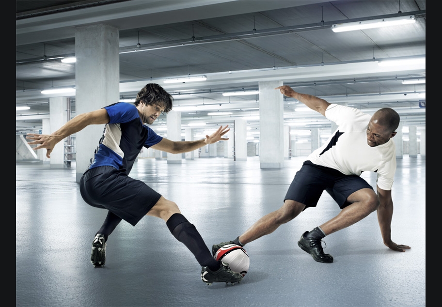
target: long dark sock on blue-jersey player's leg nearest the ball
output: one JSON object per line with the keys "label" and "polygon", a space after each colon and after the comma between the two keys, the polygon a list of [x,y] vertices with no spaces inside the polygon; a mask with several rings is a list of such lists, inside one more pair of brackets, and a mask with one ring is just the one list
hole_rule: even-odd
{"label": "long dark sock on blue-jersey player's leg nearest the ball", "polygon": [[221,263],[213,258],[198,230],[184,215],[175,213],[167,220],[166,225],[174,237],[189,248],[201,266],[208,266],[212,271],[220,268]]}

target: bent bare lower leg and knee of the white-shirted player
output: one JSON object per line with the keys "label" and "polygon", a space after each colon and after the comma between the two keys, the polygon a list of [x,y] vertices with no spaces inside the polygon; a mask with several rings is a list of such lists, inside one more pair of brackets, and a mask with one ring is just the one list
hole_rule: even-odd
{"label": "bent bare lower leg and knee of the white-shirted player", "polygon": [[345,207],[331,220],[320,225],[326,235],[359,222],[370,213],[376,211],[379,206],[379,198],[372,189],[361,189],[351,194],[347,201],[351,205]]}

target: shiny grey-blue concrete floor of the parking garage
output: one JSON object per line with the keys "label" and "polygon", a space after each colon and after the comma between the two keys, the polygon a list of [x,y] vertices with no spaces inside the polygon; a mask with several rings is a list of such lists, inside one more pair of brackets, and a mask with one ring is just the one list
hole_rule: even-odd
{"label": "shiny grey-blue concrete floor of the parking garage", "polygon": [[[267,170],[257,157],[139,159],[131,175],[174,200],[211,248],[278,209],[304,159]],[[384,246],[373,213],[325,238],[333,263],[314,261],[297,241],[338,213],[325,193],[318,207],[245,246],[250,270],[233,286],[203,283],[193,255],[150,216],[120,223],[106,266],[94,268],[91,243],[107,212],[81,199],[74,168],[16,164],[16,306],[426,306],[425,157],[398,160],[393,188],[392,238],[410,250]],[[375,174],[363,177],[376,185]]]}

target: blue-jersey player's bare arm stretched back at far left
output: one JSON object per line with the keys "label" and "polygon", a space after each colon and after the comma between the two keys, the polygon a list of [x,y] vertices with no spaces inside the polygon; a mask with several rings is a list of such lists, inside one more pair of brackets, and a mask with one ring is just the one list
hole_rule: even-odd
{"label": "blue-jersey player's bare arm stretched back at far left", "polygon": [[79,132],[83,128],[91,124],[103,124],[109,123],[110,118],[108,112],[105,109],[99,109],[88,113],[79,114],[67,123],[65,123],[60,129],[51,134],[35,134],[28,133],[27,139],[32,139],[28,142],[30,145],[39,144],[34,147],[33,150],[46,148],[46,156],[50,158],[50,153],[54,149],[55,144],[60,142],[63,138],[70,136],[76,132]]}

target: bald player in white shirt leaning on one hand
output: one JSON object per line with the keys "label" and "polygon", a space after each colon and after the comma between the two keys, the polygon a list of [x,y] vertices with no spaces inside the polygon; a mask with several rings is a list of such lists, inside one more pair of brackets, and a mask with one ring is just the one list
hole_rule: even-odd
{"label": "bald player in white shirt leaning on one hand", "polygon": [[[391,239],[393,200],[391,189],[396,170],[395,143],[399,115],[391,108],[381,108],[373,116],[352,107],[330,104],[313,95],[295,92],[283,85],[280,90],[307,107],[321,113],[338,125],[328,141],[307,157],[295,174],[284,198],[284,205],[260,218],[233,241],[212,246],[212,253],[226,244],[244,246],[298,216],[308,207],[316,207],[322,192],[327,191],[342,209],[331,220],[305,231],[298,246],[318,262],[331,263],[325,254],[322,239],[362,220],[377,210],[380,232],[385,246],[404,252],[410,246],[399,245]],[[363,171],[377,173],[377,192],[363,180]]]}

